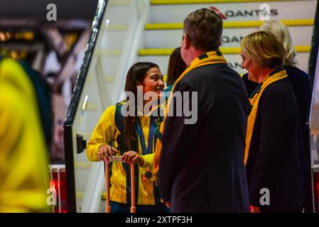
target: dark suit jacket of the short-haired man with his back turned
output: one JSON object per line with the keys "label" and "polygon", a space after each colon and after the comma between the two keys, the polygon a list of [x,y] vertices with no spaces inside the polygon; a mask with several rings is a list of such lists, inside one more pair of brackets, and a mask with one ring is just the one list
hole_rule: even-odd
{"label": "dark suit jacket of the short-haired man with his back turned", "polygon": [[[249,211],[244,168],[249,101],[242,79],[226,64],[206,65],[186,74],[178,91],[198,92],[198,121],[185,124],[185,114],[166,119],[161,196],[173,212]],[[184,106],[193,103],[184,99]]]}

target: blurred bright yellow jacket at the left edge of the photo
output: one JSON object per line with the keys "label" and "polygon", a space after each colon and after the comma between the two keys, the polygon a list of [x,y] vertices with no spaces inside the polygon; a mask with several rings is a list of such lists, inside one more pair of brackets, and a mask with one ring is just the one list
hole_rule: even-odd
{"label": "blurred bright yellow jacket at the left edge of the photo", "polygon": [[18,62],[0,61],[0,213],[50,211],[48,151],[33,84]]}

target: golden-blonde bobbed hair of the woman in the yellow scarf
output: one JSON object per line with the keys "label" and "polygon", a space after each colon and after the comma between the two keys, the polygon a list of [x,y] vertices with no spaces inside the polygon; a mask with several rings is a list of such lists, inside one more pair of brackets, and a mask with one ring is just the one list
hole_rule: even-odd
{"label": "golden-blonde bobbed hair of the woman in the yellow scarf", "polygon": [[240,43],[242,51],[256,65],[279,67],[283,65],[285,49],[276,36],[269,31],[257,31],[244,37]]}

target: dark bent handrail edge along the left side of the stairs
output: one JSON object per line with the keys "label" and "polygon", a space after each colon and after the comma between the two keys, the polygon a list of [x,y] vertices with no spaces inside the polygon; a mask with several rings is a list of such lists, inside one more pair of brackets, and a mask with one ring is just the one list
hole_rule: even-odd
{"label": "dark bent handrail edge along the left side of the stairs", "polygon": [[97,40],[97,35],[99,34],[99,28],[102,24],[102,18],[104,12],[107,9],[107,0],[99,0],[97,5],[97,12],[95,13],[94,20],[92,22],[92,31],[90,35],[90,40],[87,43],[87,48],[85,50],[85,57],[80,68],[80,72],[77,76],[77,82],[75,83],[75,88],[73,89],[72,98],[70,101],[70,106],[67,108],[67,114],[64,122],[64,148],[65,148],[65,172],[67,180],[67,210],[70,213],[75,213],[76,209],[76,198],[75,198],[75,172],[74,172],[74,160],[73,160],[73,145],[72,145],[72,123],[75,118],[75,113],[77,106],[80,103],[80,96],[82,89],[85,84],[85,79],[87,77],[87,72],[89,70],[90,60],[93,55],[94,46]]}

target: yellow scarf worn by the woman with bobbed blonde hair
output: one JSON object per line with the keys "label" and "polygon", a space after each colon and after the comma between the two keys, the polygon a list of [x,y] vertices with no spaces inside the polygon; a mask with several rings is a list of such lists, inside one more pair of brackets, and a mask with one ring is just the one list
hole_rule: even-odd
{"label": "yellow scarf worn by the woman with bobbed blonde hair", "polygon": [[245,155],[244,155],[244,164],[247,164],[247,159],[249,155],[249,148],[252,141],[252,133],[254,131],[254,125],[256,121],[256,116],[258,113],[258,103],[261,97],[261,94],[264,92],[264,89],[280,79],[286,78],[288,75],[286,74],[286,70],[283,70],[281,67],[277,68],[276,70],[272,70],[266,77],[263,79],[263,82],[259,84],[258,87],[254,90],[252,96],[250,96],[249,101],[252,105],[252,111],[248,116],[247,121],[247,133],[246,133],[246,148],[245,148]]}

